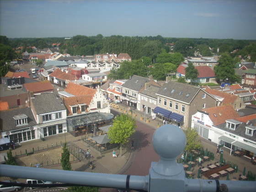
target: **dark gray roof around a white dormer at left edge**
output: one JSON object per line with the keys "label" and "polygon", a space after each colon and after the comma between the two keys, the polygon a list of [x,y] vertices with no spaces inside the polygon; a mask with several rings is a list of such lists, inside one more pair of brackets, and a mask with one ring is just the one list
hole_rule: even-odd
{"label": "dark gray roof around a white dormer at left edge", "polygon": [[[16,126],[16,121],[13,118],[15,115],[25,114],[27,115],[27,124]],[[2,131],[15,130],[20,128],[33,127],[37,125],[31,108],[19,107],[14,109],[9,109],[5,111],[0,111],[0,128]]]}

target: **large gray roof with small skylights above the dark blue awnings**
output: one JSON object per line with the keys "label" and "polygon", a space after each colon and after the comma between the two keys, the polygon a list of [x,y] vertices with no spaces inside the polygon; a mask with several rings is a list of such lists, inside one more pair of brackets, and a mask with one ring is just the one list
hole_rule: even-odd
{"label": "large gray roof with small skylights above the dark blue awnings", "polygon": [[199,89],[197,86],[169,81],[160,87],[156,94],[190,103]]}

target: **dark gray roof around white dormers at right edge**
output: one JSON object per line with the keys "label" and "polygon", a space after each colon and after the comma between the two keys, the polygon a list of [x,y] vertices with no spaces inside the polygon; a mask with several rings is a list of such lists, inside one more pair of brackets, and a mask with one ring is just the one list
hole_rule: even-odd
{"label": "dark gray roof around white dormers at right edge", "polygon": [[222,124],[219,124],[217,127],[220,128],[220,129],[223,129],[224,131],[228,131],[230,133],[234,133],[234,134],[240,135],[242,137],[245,137],[247,139],[251,139],[251,140],[256,141],[256,133],[255,133],[255,131],[254,131],[253,136],[245,134],[245,127],[247,127],[247,126],[249,126],[251,124],[255,125],[256,124],[256,119],[250,120],[250,123],[248,125],[246,123],[239,124],[239,126],[237,128],[235,128],[235,130],[230,129],[230,128],[226,128],[226,122],[222,123]]}

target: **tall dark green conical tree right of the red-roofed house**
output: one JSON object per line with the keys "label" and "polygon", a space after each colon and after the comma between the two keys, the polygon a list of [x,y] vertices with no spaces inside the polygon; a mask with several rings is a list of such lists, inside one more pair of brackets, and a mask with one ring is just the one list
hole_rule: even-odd
{"label": "tall dark green conical tree right of the red-roofed house", "polygon": [[213,68],[216,80],[219,82],[222,80],[234,82],[236,80],[234,68],[235,60],[228,53],[223,53],[218,60],[218,64]]}

